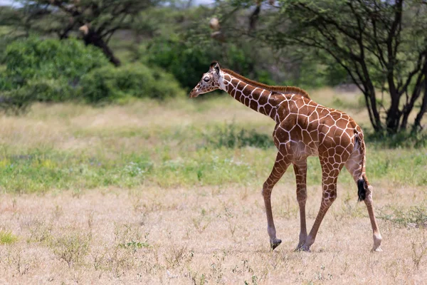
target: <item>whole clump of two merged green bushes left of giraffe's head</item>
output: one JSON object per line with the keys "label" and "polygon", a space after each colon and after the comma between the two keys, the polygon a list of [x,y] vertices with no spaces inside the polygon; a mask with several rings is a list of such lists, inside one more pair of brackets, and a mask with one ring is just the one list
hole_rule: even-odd
{"label": "whole clump of two merged green bushes left of giraffe's head", "polygon": [[99,49],[75,39],[15,41],[6,48],[0,76],[0,108],[9,113],[36,101],[99,103],[183,94],[169,73],[141,64],[114,68]]}

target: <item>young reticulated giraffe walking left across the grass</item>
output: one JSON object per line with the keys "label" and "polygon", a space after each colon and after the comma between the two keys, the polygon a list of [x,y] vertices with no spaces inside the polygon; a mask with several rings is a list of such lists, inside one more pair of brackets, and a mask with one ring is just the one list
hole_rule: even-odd
{"label": "young reticulated giraffe walking left across the grass", "polygon": [[[358,187],[359,201],[364,201],[371,221],[374,246],[381,252],[381,234],[376,224],[372,187],[365,173],[365,144],[362,129],[346,113],[315,103],[297,87],[267,86],[251,81],[214,61],[209,71],[191,90],[190,98],[221,89],[249,108],[272,118],[276,125],[273,140],[278,154],[270,176],[263,184],[270,248],[282,242],[276,237],[271,209],[271,192],[292,164],[296,177],[297,202],[300,208],[300,236],[295,250],[310,252],[327,210],[337,198],[337,178],[346,167]],[[307,157],[317,155],[322,167],[322,202],[309,234],[305,223],[307,201]]]}

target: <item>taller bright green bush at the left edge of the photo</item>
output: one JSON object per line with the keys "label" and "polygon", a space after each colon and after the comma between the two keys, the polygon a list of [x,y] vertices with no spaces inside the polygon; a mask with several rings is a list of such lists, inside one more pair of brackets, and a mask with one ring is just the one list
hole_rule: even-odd
{"label": "taller bright green bush at the left edge of the photo", "polygon": [[21,113],[33,102],[60,102],[76,97],[83,75],[110,66],[97,48],[76,39],[27,38],[6,48],[0,75],[0,108]]}

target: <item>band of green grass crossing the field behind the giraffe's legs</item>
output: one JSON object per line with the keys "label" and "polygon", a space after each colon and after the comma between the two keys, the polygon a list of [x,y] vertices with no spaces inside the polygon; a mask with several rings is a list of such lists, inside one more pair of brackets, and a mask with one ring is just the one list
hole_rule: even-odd
{"label": "band of green grass crossing the field behind the giraffe's legs", "polygon": [[[162,187],[199,185],[254,185],[260,187],[270,174],[275,147],[234,147],[212,144],[200,135],[199,147],[159,145],[140,152],[101,150],[95,154],[50,148],[28,150],[0,157],[0,185],[4,192],[46,192],[52,189],[85,190],[137,185]],[[189,136],[190,138],[191,136]],[[196,143],[197,145],[197,143]],[[427,185],[427,150],[370,150],[367,176],[372,184],[386,182],[401,186]],[[309,157],[307,182],[320,185],[322,172],[317,157]],[[295,181],[292,167],[282,181]],[[339,182],[352,185],[342,171]]]}

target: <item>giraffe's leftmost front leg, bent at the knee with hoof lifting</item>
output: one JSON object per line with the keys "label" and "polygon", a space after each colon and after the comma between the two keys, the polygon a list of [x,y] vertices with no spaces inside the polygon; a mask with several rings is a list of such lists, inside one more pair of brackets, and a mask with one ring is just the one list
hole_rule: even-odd
{"label": "giraffe's leftmost front leg, bent at the knee with hoof lifting", "polygon": [[271,210],[271,191],[273,190],[274,185],[283,176],[288,166],[289,163],[283,160],[283,155],[281,155],[279,152],[278,156],[276,157],[273,170],[271,171],[270,176],[267,178],[267,180],[265,180],[263,185],[265,214],[267,216],[267,232],[268,236],[270,237],[270,247],[272,250],[278,247],[282,241],[276,237],[273,212]]}

